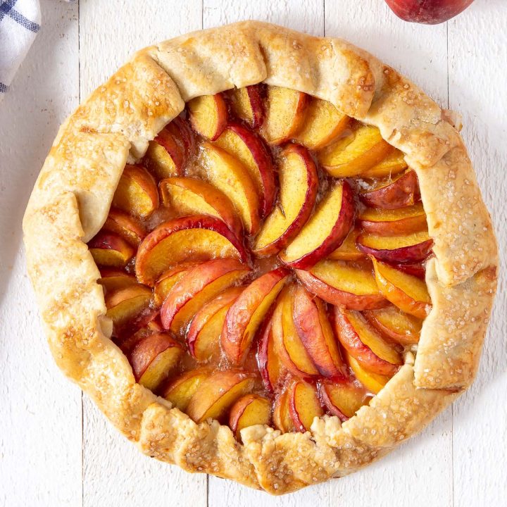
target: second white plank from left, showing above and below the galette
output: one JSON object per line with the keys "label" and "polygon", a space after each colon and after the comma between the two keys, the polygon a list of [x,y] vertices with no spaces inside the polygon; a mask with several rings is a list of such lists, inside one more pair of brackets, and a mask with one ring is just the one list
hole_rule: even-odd
{"label": "second white plank from left, showing above and below the galette", "polygon": [[[199,28],[200,0],[81,1],[81,96],[92,92],[134,51]],[[206,504],[206,475],[189,475],[142,456],[86,396],[83,409],[84,506]]]}

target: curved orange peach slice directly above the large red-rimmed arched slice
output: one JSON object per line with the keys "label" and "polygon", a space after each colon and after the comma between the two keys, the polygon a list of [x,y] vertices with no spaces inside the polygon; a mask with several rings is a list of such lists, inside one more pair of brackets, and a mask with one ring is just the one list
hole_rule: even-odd
{"label": "curved orange peach slice directly above the large red-rimmed arched slice", "polygon": [[230,199],[212,184],[189,177],[165,178],[159,184],[162,204],[178,215],[211,215],[223,220],[239,237],[242,223]]}

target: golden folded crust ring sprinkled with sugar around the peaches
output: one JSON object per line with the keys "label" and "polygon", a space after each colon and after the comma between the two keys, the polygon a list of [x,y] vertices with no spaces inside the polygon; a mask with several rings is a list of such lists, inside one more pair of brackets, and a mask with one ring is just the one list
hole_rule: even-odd
{"label": "golden folded crust ring sprinkled with sugar around the peaches", "polygon": [[[356,416],[343,425],[315,419],[305,434],[249,427],[239,444],[227,426],[197,425],[134,381],[109,338],[86,242],[106,220],[125,163],[144,154],[186,101],[258,82],[330,101],[406,154],[434,239],[433,307],[415,364]],[[455,125],[413,83],[340,39],[246,21],[140,51],[63,124],[25,213],[28,272],[56,362],[144,453],[190,472],[282,494],[384,456],[472,382],[494,298],[496,240]]]}

